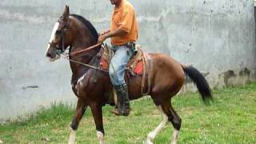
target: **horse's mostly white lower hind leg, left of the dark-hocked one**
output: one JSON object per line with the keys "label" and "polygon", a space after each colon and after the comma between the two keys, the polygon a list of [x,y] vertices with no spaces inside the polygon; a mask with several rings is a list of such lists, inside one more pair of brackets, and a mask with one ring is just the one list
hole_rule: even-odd
{"label": "horse's mostly white lower hind leg, left of the dark-hocked one", "polygon": [[162,122],[160,122],[160,124],[153,131],[151,131],[150,134],[147,135],[146,142],[145,142],[146,144],[153,143],[155,136],[166,126],[166,123],[168,122],[168,118],[166,114],[163,112],[161,106],[158,106],[158,110],[162,114]]}

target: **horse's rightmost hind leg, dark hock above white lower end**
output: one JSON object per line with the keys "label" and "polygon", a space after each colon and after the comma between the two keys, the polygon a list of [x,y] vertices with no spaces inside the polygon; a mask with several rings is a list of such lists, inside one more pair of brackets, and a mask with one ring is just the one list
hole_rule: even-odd
{"label": "horse's rightmost hind leg, dark hock above white lower end", "polygon": [[178,140],[178,133],[182,126],[182,118],[179,117],[179,115],[175,112],[175,110],[172,108],[170,103],[166,103],[162,105],[162,110],[166,113],[168,117],[168,121],[170,121],[174,126],[174,133],[171,144],[176,144]]}

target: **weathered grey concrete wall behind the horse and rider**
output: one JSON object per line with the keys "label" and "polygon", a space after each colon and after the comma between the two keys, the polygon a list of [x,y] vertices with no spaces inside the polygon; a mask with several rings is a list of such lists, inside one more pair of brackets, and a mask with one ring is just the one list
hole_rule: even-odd
{"label": "weathered grey concrete wall behind the horse and rider", "polygon": [[[214,88],[246,83],[255,75],[253,0],[130,0],[146,51],[169,54],[201,70]],[[74,102],[66,60],[44,53],[54,22],[68,4],[98,31],[110,26],[112,6],[97,0],[1,0],[0,121]],[[190,87],[190,85],[187,85]]]}

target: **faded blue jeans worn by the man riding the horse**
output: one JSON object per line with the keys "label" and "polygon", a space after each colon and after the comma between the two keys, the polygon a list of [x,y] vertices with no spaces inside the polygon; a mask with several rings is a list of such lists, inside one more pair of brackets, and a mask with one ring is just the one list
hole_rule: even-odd
{"label": "faded blue jeans worn by the man riding the horse", "polygon": [[114,57],[110,62],[110,80],[114,86],[125,84],[125,68],[134,51],[126,46],[112,46]]}

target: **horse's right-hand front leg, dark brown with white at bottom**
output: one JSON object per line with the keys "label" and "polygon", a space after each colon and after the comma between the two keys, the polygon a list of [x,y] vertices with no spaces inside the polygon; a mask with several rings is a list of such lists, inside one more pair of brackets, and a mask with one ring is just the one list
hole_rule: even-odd
{"label": "horse's right-hand front leg, dark brown with white at bottom", "polygon": [[97,138],[100,144],[104,144],[104,129],[102,122],[102,106],[99,103],[90,105],[90,110],[94,116],[94,122],[97,130]]}

